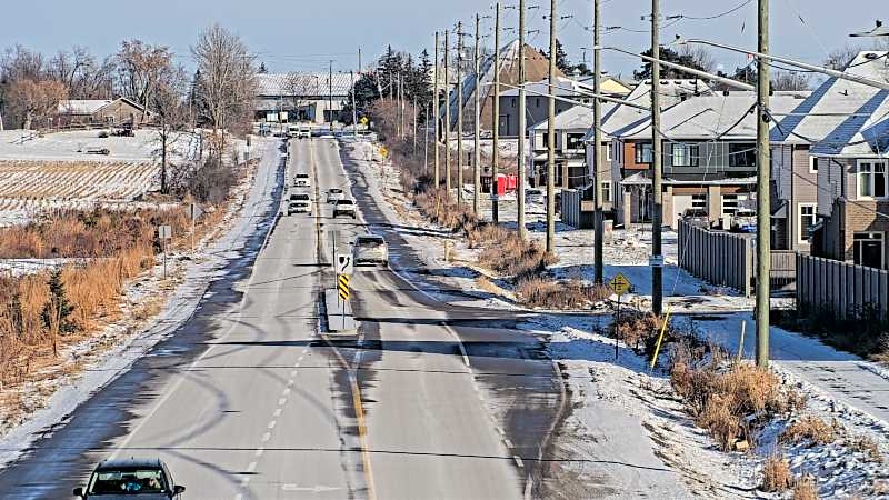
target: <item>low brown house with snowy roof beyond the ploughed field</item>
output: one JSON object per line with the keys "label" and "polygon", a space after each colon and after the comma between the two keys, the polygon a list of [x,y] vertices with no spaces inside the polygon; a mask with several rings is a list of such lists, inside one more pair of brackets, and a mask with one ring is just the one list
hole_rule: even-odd
{"label": "low brown house with snowy roof beyond the ploughed field", "polygon": [[57,127],[139,127],[151,122],[153,113],[128,98],[114,100],[80,99],[59,102],[53,124]]}

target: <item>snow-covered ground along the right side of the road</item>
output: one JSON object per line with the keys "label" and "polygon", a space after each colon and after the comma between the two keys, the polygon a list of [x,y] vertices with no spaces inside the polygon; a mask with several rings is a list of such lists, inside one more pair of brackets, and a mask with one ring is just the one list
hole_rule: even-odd
{"label": "snow-covered ground along the right side of the road", "polygon": [[[356,158],[369,158],[370,144],[357,144]],[[427,263],[429,276],[417,277],[418,282],[438,280],[461,288],[483,300],[485,307],[510,307],[508,291],[491,293],[479,283],[478,269],[473,268],[475,252],[441,228],[429,223],[412,208],[399,186],[394,166],[380,161],[359,162],[371,192],[390,221],[400,224],[404,239]],[[374,189],[376,188],[376,189]],[[471,200],[471,191],[467,197]],[[502,200],[501,220],[515,221],[515,200]],[[490,213],[490,203],[482,203]],[[540,222],[542,207],[530,207],[529,222],[538,222],[531,237],[542,239],[545,228]],[[506,216],[506,217],[503,217]],[[515,222],[513,222],[515,227]],[[452,248],[450,260],[444,258],[446,243]],[[677,234],[665,234],[665,297],[672,309],[675,321],[689,326],[709,339],[737,353],[741,323],[747,323],[745,358],[752,359],[755,350],[753,303],[737,293],[711,287],[676,266]],[[556,236],[559,262],[550,271],[559,278],[590,280],[593,276],[593,234],[591,230],[573,230],[559,226]],[[651,272],[648,258],[651,252],[651,233],[643,230],[616,230],[605,246],[605,274],[623,273],[633,284],[626,302],[640,309],[650,308]],[[398,262],[394,260],[394,267]],[[409,271],[408,271],[409,272]],[[430,278],[431,277],[431,278]],[[434,288],[434,287],[430,287]],[[447,296],[443,300],[452,300]],[[505,299],[505,300],[500,300]],[[776,303],[778,300],[776,300]],[[567,384],[572,394],[573,411],[566,422],[575,432],[573,440],[562,440],[559,446],[581,457],[592,453],[592,444],[613,440],[616,456],[631,456],[649,463],[653,451],[666,466],[679,473],[691,491],[705,498],[782,498],[757,491],[761,481],[765,458],[775,450],[778,434],[790,420],[772,422],[760,437],[751,453],[722,453],[706,433],[693,426],[673,396],[669,380],[662,372],[649,372],[646,360],[621,346],[619,359],[613,358],[613,340],[598,336],[597,328],[610,322],[608,312],[587,316],[541,314],[529,328],[550,339],[550,354],[568,374]],[[805,444],[786,447],[785,457],[795,474],[812,473],[817,477],[823,498],[889,498],[889,469],[868,458],[853,446],[855,437],[867,437],[878,447],[882,457],[889,457],[889,370],[862,360],[799,333],[779,328],[770,329],[772,369],[788,387],[795,387],[808,397],[803,414],[836,420],[846,440],[823,447]],[[622,426],[613,426],[615,419]],[[650,450],[636,450],[638,436],[645,433]],[[601,457],[590,457],[592,459]],[[588,470],[582,461],[572,462],[576,474],[600,473],[620,478],[619,468],[600,467]],[[665,488],[661,498],[682,498],[678,490]],[[632,494],[626,498],[633,498]]]}

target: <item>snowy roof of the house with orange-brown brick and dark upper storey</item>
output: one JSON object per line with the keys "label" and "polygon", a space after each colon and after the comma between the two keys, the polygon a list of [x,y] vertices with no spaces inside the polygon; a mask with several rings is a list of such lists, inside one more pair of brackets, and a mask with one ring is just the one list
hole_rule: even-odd
{"label": "snowy roof of the house with orange-brown brick and dark upper storey", "polygon": [[[785,113],[802,102],[808,92],[776,92],[772,112]],[[678,102],[661,113],[661,132],[670,139],[752,139],[757,134],[756,92],[738,91],[699,96]],[[773,122],[772,122],[773,126]],[[646,119],[620,134],[622,139],[651,139],[651,120]]]}

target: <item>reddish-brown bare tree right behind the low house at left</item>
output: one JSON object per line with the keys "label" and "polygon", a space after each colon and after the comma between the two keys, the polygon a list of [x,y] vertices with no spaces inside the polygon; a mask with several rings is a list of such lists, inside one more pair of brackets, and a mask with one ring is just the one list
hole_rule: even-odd
{"label": "reddish-brown bare tree right behind the low house at left", "polygon": [[141,40],[124,40],[117,54],[121,91],[142,107],[144,121],[152,92],[164,71],[172,64],[173,54],[167,47],[149,46]]}

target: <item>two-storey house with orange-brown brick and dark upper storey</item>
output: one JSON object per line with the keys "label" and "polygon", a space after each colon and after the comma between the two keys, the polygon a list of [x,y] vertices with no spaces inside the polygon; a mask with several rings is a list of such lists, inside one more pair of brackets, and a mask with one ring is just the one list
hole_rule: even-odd
{"label": "two-storey house with orange-brown brick and dark upper storey", "polygon": [[[808,92],[776,92],[770,109],[787,113]],[[661,112],[663,223],[676,228],[689,209],[705,210],[718,223],[752,206],[757,184],[756,93],[697,96],[667,104]],[[652,130],[650,118],[612,134],[621,144],[622,214],[650,220]],[[625,216],[626,217],[626,216]]]}

